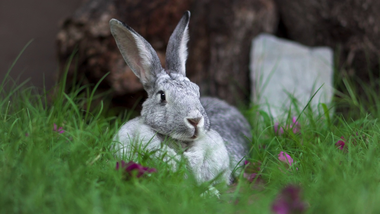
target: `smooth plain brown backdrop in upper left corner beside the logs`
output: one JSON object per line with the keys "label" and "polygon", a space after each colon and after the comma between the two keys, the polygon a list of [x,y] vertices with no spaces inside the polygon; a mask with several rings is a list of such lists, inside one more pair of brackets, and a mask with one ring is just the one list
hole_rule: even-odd
{"label": "smooth plain brown backdrop in upper left corner beside the logs", "polygon": [[31,40],[11,72],[11,77],[33,85],[54,85],[58,74],[55,38],[60,22],[72,15],[81,5],[78,0],[11,0],[0,1],[0,80],[8,71],[22,48]]}

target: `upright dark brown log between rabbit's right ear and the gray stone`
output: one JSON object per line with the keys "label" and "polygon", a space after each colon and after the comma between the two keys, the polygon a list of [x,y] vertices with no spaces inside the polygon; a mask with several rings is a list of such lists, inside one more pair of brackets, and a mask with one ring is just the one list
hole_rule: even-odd
{"label": "upright dark brown log between rabbit's right ear and the gray stone", "polygon": [[277,29],[271,0],[204,0],[195,3],[188,70],[201,94],[230,104],[249,101],[252,39]]}

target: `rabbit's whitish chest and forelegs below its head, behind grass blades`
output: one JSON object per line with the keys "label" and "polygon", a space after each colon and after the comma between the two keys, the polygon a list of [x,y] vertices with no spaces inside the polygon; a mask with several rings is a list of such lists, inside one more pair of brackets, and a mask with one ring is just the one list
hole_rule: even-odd
{"label": "rabbit's whitish chest and forelegs below its head, behind grass blades", "polygon": [[[210,129],[205,135],[195,141],[184,144],[177,142],[169,147],[162,144],[163,139],[149,126],[144,124],[141,117],[125,123],[114,136],[117,156],[134,159],[135,150],[154,153],[156,158],[163,157],[173,170],[177,169],[177,162],[184,158],[187,168],[195,176],[199,184],[213,180],[220,176],[215,182],[229,182],[231,171],[229,169],[229,157],[223,139],[216,131]],[[183,148],[186,146],[186,148]],[[185,149],[182,155],[180,152]]]}

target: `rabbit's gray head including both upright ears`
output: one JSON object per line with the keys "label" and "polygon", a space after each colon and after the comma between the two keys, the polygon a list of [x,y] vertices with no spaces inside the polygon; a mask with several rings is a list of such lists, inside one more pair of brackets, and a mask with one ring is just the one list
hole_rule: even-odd
{"label": "rabbit's gray head including both upright ears", "polygon": [[152,46],[131,27],[111,19],[111,33],[125,62],[140,78],[148,98],[141,116],[146,125],[160,134],[190,142],[204,136],[209,118],[199,101],[199,87],[185,75],[188,22],[186,11],[171,35],[162,68]]}

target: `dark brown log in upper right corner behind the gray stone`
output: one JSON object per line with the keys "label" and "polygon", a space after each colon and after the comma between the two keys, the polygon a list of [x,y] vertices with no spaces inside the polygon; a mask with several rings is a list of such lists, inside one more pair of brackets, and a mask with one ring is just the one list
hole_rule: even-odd
{"label": "dark brown log in upper right corner behind the gray stone", "polygon": [[[368,78],[378,73],[380,2],[377,0],[276,0],[287,37],[336,50],[339,70]],[[354,72],[355,71],[355,72]]]}

